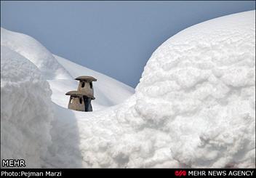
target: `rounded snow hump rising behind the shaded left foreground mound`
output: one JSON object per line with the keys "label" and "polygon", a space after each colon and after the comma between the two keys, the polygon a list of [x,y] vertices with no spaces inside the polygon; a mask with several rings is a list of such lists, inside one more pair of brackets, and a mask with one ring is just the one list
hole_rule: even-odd
{"label": "rounded snow hump rising behind the shaded left foreground mound", "polygon": [[46,79],[71,78],[69,73],[55,60],[52,53],[31,36],[1,28],[1,45],[31,60]]}

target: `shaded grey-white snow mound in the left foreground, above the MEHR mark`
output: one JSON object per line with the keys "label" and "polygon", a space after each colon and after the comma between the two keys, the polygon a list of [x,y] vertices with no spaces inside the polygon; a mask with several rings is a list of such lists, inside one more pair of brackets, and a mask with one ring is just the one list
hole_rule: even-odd
{"label": "shaded grey-white snow mound in the left foreground, above the MEHR mark", "polygon": [[1,159],[40,167],[51,144],[49,84],[25,57],[1,46]]}

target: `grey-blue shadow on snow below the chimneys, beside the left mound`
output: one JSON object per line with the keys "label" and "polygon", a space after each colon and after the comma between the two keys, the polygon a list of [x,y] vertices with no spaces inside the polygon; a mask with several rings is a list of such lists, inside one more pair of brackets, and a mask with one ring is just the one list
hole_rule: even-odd
{"label": "grey-blue shadow on snow below the chimneys, beside the left mound", "polygon": [[83,157],[79,149],[79,127],[72,110],[62,108],[52,102],[54,121],[52,121],[52,145],[48,147],[44,167],[81,168]]}

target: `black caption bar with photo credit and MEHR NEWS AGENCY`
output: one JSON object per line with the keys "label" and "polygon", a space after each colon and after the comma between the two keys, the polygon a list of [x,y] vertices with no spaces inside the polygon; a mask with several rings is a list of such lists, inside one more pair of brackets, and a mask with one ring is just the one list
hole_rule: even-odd
{"label": "black caption bar with photo credit and MEHR NEWS AGENCY", "polygon": [[256,169],[1,169],[1,177],[150,175],[159,177],[255,177]]}

